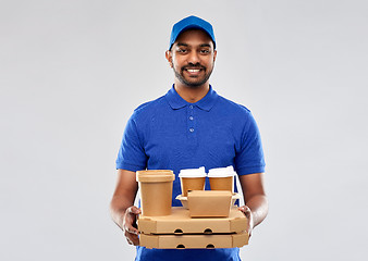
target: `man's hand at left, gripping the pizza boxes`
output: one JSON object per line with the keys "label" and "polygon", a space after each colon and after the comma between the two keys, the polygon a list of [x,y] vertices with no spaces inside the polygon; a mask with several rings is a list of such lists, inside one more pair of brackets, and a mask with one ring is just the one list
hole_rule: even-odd
{"label": "man's hand at left, gripping the pizza boxes", "polygon": [[139,245],[139,232],[136,226],[137,215],[142,211],[135,206],[132,206],[126,209],[124,219],[123,219],[123,232],[126,240],[130,245],[138,246]]}

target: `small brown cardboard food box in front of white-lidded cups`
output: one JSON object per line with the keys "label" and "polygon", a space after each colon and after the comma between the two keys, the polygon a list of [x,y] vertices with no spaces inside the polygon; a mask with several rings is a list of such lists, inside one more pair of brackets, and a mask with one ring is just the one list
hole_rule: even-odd
{"label": "small brown cardboard food box in front of white-lidded cups", "polygon": [[225,190],[193,190],[188,192],[191,217],[229,216],[233,194]]}

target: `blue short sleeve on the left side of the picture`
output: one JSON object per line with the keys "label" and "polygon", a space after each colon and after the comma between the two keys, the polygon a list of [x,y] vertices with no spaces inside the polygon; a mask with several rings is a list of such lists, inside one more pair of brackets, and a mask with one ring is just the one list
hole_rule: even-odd
{"label": "blue short sleeve on the left side of the picture", "polygon": [[116,169],[140,171],[147,166],[147,156],[139,139],[134,114],[128,120],[116,159]]}

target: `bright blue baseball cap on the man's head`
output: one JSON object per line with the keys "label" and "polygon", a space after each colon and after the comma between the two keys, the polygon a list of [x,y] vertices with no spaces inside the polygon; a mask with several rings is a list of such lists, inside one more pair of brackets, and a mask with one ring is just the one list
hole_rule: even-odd
{"label": "bright blue baseball cap on the man's head", "polygon": [[213,34],[213,28],[210,23],[207,21],[199,18],[197,16],[191,15],[186,18],[183,18],[179,21],[174,26],[172,27],[171,30],[171,36],[170,36],[170,46],[169,50],[171,50],[172,45],[175,42],[177,36],[183,33],[184,30],[187,29],[201,29],[205,33],[208,34],[208,36],[211,38],[213,41],[213,48],[216,49],[216,40],[214,40],[214,34]]}

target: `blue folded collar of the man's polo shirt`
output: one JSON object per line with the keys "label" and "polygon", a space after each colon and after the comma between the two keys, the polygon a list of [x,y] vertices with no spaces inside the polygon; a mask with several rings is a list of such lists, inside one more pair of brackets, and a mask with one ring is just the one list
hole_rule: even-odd
{"label": "blue folded collar of the man's polo shirt", "polygon": [[210,111],[218,98],[218,94],[212,89],[212,86],[210,85],[209,90],[204,98],[201,98],[199,101],[195,103],[189,103],[176,92],[174,85],[172,85],[171,89],[165,95],[165,98],[170,107],[174,110],[192,104],[197,105],[201,110]]}

